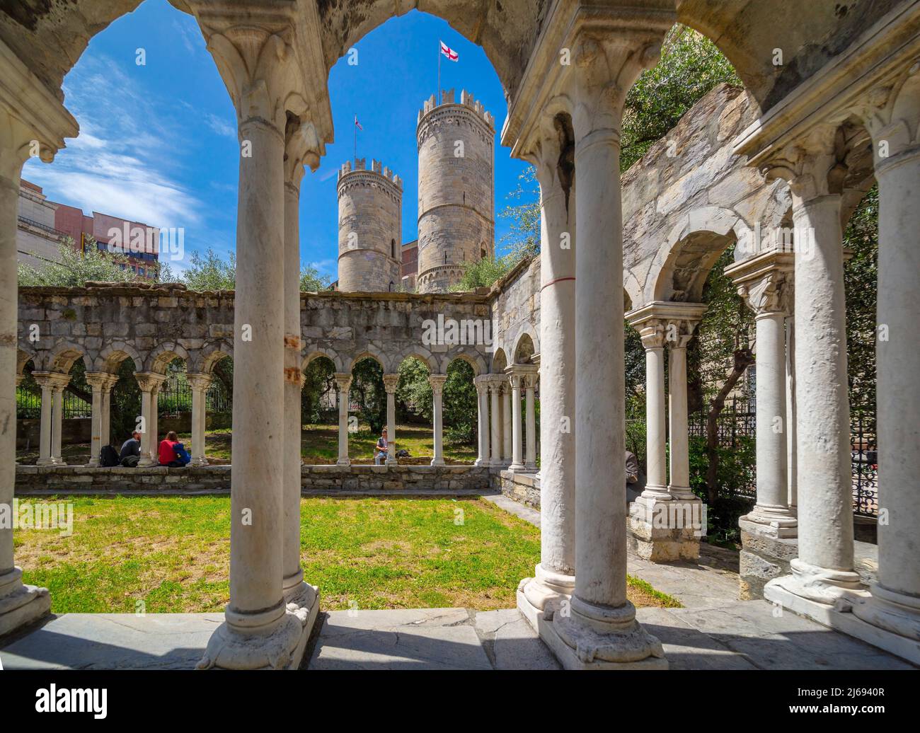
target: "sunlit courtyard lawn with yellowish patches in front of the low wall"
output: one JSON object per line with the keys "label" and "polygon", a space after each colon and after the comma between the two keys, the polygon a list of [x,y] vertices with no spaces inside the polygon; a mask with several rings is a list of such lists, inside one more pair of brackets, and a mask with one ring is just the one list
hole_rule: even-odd
{"label": "sunlit courtyard lawn with yellowish patches in front of the low wall", "polygon": [[[48,499],[55,501],[61,499]],[[17,530],[54,613],[202,613],[229,600],[230,500],[71,498],[74,533]],[[480,498],[303,498],[301,561],[326,610],[513,608],[540,533]],[[637,606],[677,606],[627,578]]]}

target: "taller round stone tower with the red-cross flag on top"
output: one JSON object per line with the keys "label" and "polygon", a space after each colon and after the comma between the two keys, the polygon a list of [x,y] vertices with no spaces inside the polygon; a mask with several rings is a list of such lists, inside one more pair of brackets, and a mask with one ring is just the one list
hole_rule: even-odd
{"label": "taller round stone tower with the red-cross flag on top", "polygon": [[466,91],[419,112],[418,292],[444,292],[495,252],[495,119]]}

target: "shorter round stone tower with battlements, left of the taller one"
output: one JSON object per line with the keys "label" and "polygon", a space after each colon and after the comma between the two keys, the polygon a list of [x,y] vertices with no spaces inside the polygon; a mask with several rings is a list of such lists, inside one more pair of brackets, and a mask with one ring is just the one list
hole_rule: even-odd
{"label": "shorter round stone tower with battlements, left of the taller one", "polygon": [[339,290],[388,292],[399,284],[402,181],[364,158],[339,168]]}

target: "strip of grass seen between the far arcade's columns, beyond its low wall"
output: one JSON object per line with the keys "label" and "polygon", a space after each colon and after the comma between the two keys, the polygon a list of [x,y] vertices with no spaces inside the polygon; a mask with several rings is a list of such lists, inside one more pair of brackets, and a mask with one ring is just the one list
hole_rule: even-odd
{"label": "strip of grass seen between the far arcade's columns, beyond its low wall", "polygon": [[[352,463],[373,464],[374,443],[378,436],[369,429],[360,429],[349,435],[349,457]],[[233,431],[229,428],[215,429],[205,435],[205,455],[214,463],[230,462],[230,443]],[[187,449],[191,446],[189,433],[179,433],[179,441]],[[434,457],[434,441],[431,428],[419,425],[397,425],[397,450],[405,448],[413,459],[424,463]],[[305,425],[301,433],[301,456],[305,464],[334,464],[339,457],[338,425]],[[444,442],[444,459],[447,463],[472,464],[476,461],[475,445],[454,445]],[[39,457],[36,444],[29,451],[17,451],[17,462],[35,464]],[[62,457],[68,464],[86,464],[89,460],[89,445],[80,443],[64,445]],[[427,461],[425,460],[427,459]]]}

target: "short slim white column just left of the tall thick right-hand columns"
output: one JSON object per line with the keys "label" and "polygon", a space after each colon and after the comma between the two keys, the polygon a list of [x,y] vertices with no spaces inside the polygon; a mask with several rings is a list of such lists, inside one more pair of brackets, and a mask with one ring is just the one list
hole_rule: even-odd
{"label": "short slim white column just left of the tall thick right-hand columns", "polygon": [[785,315],[757,315],[757,504],[749,519],[791,519],[788,511]]}

